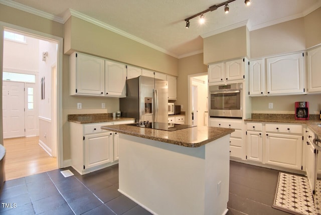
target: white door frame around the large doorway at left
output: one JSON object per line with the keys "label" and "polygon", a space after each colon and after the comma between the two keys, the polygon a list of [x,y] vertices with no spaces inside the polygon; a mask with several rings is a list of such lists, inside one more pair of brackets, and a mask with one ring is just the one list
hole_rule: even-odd
{"label": "white door frame around the large doorway at left", "polygon": [[[58,43],[58,58],[57,58],[57,76],[55,81],[57,83],[56,97],[53,99],[52,110],[57,110],[56,116],[52,119],[53,121],[53,137],[57,140],[57,161],[58,168],[64,167],[64,154],[63,154],[63,118],[62,118],[62,68],[63,68],[63,38],[54,35],[46,34],[43,32],[35,31],[32,29],[24,28],[21,26],[12,25],[5,22],[0,22],[0,93],[2,94],[2,79],[3,79],[3,52],[4,52],[4,30],[12,29],[17,32],[28,34],[31,37],[38,38],[41,40],[54,41]],[[2,106],[2,97],[0,98],[0,106]],[[0,123],[2,124],[3,114],[0,112]],[[0,144],[4,144],[3,140],[3,127],[0,126]],[[54,138],[54,139],[55,139]]]}

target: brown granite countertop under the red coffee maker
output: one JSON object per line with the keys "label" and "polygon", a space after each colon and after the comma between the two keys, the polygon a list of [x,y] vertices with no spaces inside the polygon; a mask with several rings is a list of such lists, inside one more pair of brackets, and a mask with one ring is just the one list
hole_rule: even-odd
{"label": "brown granite countertop under the red coffee maker", "polygon": [[309,120],[295,120],[294,114],[252,114],[251,118],[245,119],[245,122],[262,122],[262,123],[293,123],[305,124],[313,133],[321,137],[321,124],[319,115],[310,115]]}

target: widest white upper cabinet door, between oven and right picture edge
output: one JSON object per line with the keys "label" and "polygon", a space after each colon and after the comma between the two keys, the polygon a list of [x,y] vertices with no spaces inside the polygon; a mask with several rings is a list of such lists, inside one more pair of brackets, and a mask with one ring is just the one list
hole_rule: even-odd
{"label": "widest white upper cabinet door, between oven and right picture edge", "polygon": [[303,93],[302,53],[266,59],[268,94]]}

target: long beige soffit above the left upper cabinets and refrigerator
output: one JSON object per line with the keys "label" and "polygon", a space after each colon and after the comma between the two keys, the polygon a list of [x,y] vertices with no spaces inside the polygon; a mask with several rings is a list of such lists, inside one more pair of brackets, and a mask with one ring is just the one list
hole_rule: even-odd
{"label": "long beige soffit above the left upper cabinets and refrigerator", "polygon": [[71,17],[65,24],[64,52],[84,52],[178,76],[178,59],[99,26]]}

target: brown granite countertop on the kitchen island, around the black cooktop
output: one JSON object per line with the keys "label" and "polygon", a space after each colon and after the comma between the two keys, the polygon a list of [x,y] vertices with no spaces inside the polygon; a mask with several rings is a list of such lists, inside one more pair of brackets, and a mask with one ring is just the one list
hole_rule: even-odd
{"label": "brown granite countertop on the kitchen island, around the black cooktop", "polygon": [[102,126],[101,129],[185,147],[200,147],[234,132],[234,129],[196,126],[163,131],[129,125]]}

